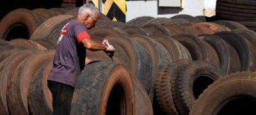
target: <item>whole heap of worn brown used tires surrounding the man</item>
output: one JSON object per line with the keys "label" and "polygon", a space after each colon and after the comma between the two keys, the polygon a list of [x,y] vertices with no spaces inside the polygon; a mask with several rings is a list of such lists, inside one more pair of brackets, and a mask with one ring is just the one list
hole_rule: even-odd
{"label": "whole heap of worn brown used tires surrounding the man", "polygon": [[[51,10],[17,9],[1,20],[1,114],[52,113],[47,77],[78,8],[57,10],[47,19]],[[115,56],[87,51],[70,114],[255,113],[256,33],[242,24],[190,15],[123,23],[101,14],[88,33],[99,43],[108,37]]]}

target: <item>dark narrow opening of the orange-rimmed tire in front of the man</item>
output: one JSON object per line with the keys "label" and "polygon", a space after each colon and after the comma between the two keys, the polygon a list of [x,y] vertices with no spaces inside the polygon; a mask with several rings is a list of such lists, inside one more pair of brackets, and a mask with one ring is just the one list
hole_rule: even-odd
{"label": "dark narrow opening of the orange-rimmed tire in front of the man", "polygon": [[125,109],[124,88],[120,84],[117,84],[109,95],[106,115],[125,114]]}

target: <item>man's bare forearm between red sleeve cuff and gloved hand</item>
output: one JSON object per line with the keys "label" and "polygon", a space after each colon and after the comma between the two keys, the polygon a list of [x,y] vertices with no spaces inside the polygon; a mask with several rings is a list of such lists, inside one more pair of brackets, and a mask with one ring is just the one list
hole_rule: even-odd
{"label": "man's bare forearm between red sleeve cuff and gloved hand", "polygon": [[107,45],[103,45],[101,43],[97,43],[90,38],[84,38],[81,43],[83,43],[84,47],[88,50],[97,51],[97,50],[106,50],[108,48]]}

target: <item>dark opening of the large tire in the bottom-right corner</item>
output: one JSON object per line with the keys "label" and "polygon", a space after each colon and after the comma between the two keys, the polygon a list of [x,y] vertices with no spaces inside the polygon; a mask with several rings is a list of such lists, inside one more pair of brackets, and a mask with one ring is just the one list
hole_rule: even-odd
{"label": "dark opening of the large tire in the bottom-right corner", "polygon": [[218,115],[222,114],[256,114],[256,98],[252,96],[236,96],[220,106]]}

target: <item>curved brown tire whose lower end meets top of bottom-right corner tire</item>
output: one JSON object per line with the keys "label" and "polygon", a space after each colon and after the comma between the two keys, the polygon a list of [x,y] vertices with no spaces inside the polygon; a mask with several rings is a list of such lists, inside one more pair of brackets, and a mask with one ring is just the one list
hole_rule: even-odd
{"label": "curved brown tire whose lower end meets top of bottom-right corner tire", "polygon": [[234,47],[219,36],[212,34],[202,34],[199,36],[205,42],[209,43],[217,52],[220,60],[220,68],[226,74],[238,72],[241,68],[239,55]]}

